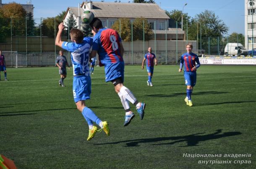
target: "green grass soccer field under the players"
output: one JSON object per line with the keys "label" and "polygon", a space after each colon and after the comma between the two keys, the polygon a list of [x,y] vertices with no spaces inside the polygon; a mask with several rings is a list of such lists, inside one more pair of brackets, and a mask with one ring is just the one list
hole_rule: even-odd
{"label": "green grass soccer field under the players", "polygon": [[[95,67],[86,105],[110,123],[111,135],[97,133],[91,141],[73,102],[72,70],[66,87],[58,85],[56,67],[8,68],[9,81],[1,72],[0,154],[19,169],[256,168],[255,66],[202,65],[193,107],[184,102],[177,65],[155,67],[153,87],[140,67],[125,67],[124,84],[146,102],[145,116],[140,120],[131,105],[136,117],[127,127],[120,98],[104,82],[104,69]],[[241,161],[251,164],[235,164]]]}

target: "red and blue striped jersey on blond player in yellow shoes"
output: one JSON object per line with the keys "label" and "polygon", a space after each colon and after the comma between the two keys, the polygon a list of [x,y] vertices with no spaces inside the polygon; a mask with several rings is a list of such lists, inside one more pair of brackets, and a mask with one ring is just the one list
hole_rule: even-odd
{"label": "red and blue striped jersey on blond player in yellow shoes", "polygon": [[[184,65],[185,72],[192,72],[192,68],[196,66],[196,69],[200,67],[200,61],[196,54],[194,53],[185,53],[181,56],[180,59],[180,69],[182,69]],[[196,71],[196,70],[193,70]]]}

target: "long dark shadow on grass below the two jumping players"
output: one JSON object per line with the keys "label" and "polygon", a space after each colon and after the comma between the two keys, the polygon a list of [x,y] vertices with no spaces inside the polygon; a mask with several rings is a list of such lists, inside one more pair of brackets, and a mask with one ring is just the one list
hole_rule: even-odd
{"label": "long dark shadow on grass below the two jumping players", "polygon": [[[198,146],[197,144],[202,141],[208,141],[213,139],[219,139],[229,136],[236,136],[242,134],[241,132],[225,132],[221,133],[222,129],[218,129],[215,133],[202,135],[204,133],[196,133],[187,136],[175,136],[175,137],[158,137],[158,138],[142,138],[136,140],[126,140],[126,141],[117,141],[112,143],[102,143],[95,145],[103,145],[103,144],[118,144],[118,143],[126,143],[125,147],[134,147],[140,146],[139,143],[153,143],[152,145],[172,145],[175,143],[185,142],[186,146]],[[157,143],[159,141],[171,141],[170,143]],[[185,147],[185,146],[180,146]]]}

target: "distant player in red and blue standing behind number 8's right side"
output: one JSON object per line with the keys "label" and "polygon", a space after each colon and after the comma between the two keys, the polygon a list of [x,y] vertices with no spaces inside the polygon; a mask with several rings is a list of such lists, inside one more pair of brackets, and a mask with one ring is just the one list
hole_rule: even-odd
{"label": "distant player in red and blue standing behind number 8's right side", "polygon": [[141,69],[144,69],[144,62],[146,60],[146,70],[148,72],[148,80],[146,82],[148,86],[149,85],[153,86],[152,76],[154,72],[154,61],[155,61],[155,65],[157,66],[157,58],[156,58],[156,55],[152,53],[151,47],[149,47],[148,51],[149,53],[145,54],[144,59],[142,61]]}

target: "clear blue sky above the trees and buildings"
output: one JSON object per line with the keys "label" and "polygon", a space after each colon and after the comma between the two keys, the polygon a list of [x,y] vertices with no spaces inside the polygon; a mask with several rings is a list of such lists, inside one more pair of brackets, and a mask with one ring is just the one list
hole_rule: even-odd
{"label": "clear blue sky above the trees and buildings", "polygon": [[[2,0],[2,3],[26,4],[29,0]],[[101,0],[94,0],[100,2]],[[114,2],[115,0],[104,0]],[[128,3],[128,0],[120,0]],[[130,0],[133,2],[133,0]],[[78,7],[83,0],[31,0],[34,5],[34,18],[55,17],[68,7]],[[204,10],[212,10],[229,28],[228,34],[245,32],[244,0],[155,0],[163,10],[183,10],[191,18]],[[187,5],[185,5],[187,3]],[[185,5],[185,6],[184,6]],[[184,8],[183,8],[184,7]]]}

